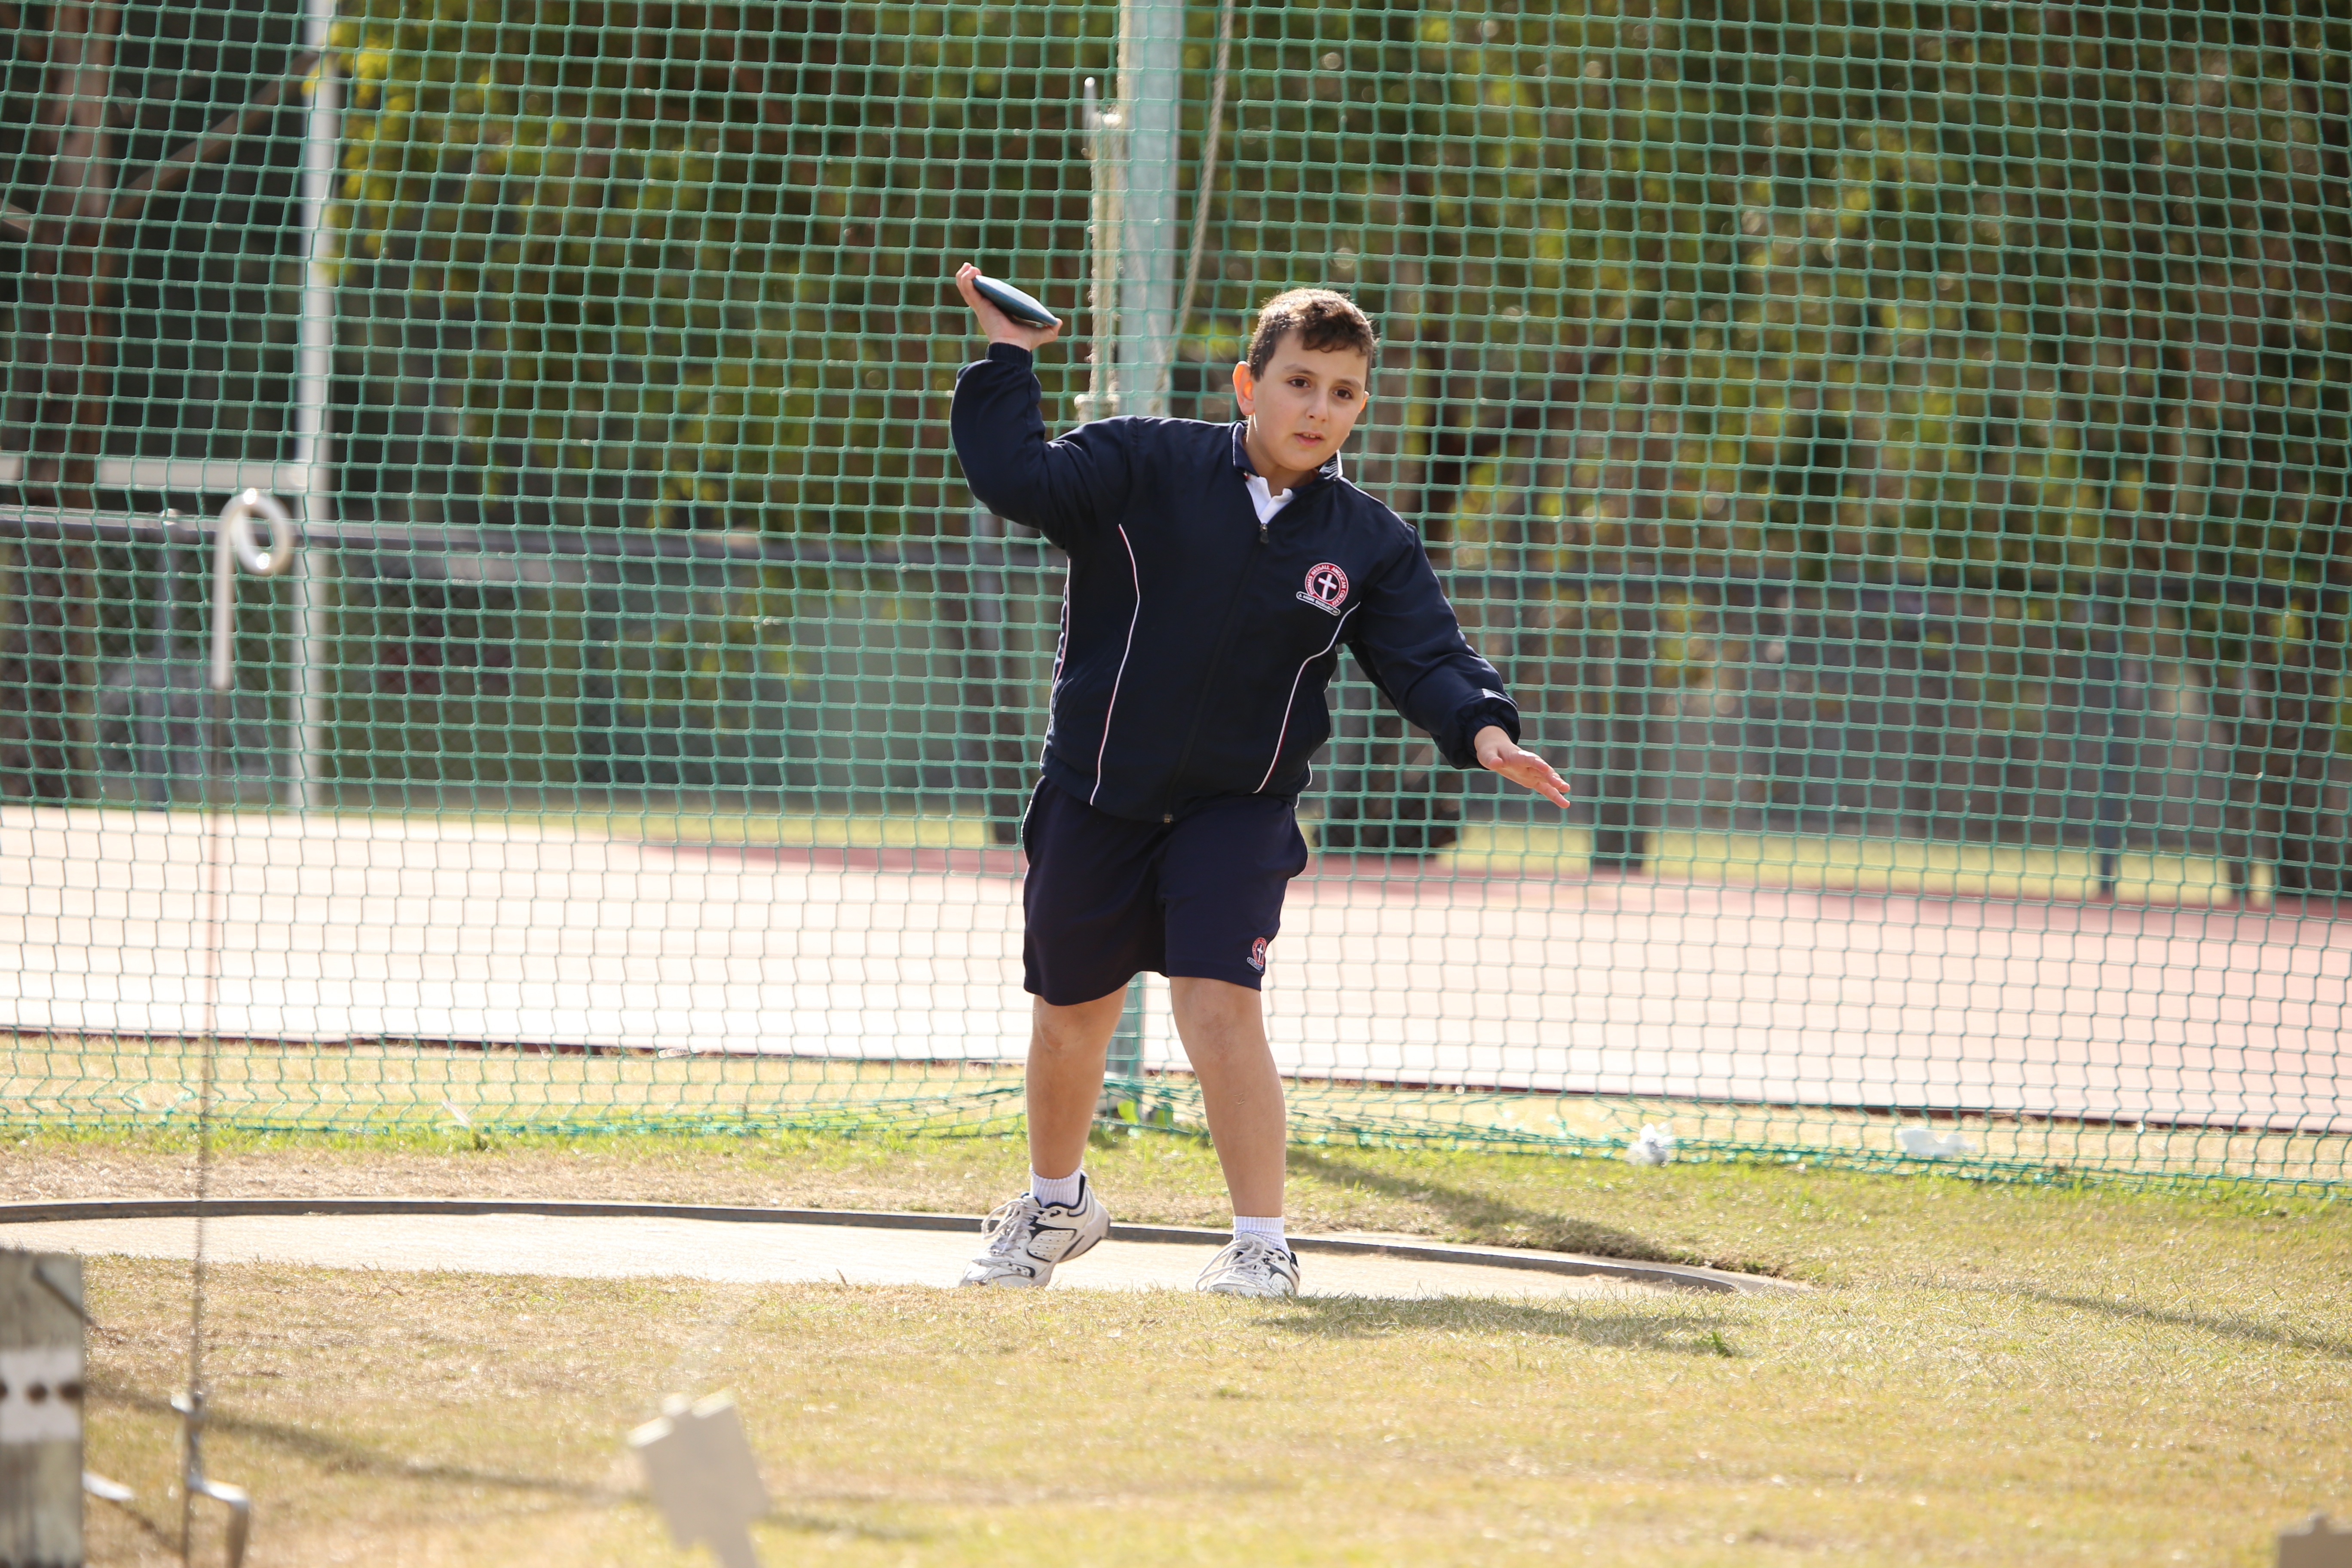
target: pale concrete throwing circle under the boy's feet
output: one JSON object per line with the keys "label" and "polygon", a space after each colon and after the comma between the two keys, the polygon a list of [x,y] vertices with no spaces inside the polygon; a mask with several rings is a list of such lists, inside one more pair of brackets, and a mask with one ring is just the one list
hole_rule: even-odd
{"label": "pale concrete throwing circle under the boy's feet", "polygon": [[[724,1218],[727,1211],[677,1206],[673,1213],[661,1213],[663,1206],[652,1204],[381,1201],[360,1206],[360,1213],[320,1213],[327,1206],[289,1199],[221,1201],[207,1222],[205,1255],[212,1262],[289,1262],[327,1269],[953,1286],[978,1251],[978,1222],[955,1215],[739,1211],[757,1215],[746,1222]],[[612,1208],[621,1213],[604,1213]],[[1054,1279],[1054,1288],[1183,1291],[1223,1241],[1223,1232],[1120,1227],[1110,1241],[1068,1265]],[[0,1246],[191,1258],[193,1204],[5,1204]],[[1308,1295],[1557,1300],[1780,1286],[1717,1269],[1449,1248],[1406,1239],[1301,1237],[1298,1248],[1301,1286]]]}

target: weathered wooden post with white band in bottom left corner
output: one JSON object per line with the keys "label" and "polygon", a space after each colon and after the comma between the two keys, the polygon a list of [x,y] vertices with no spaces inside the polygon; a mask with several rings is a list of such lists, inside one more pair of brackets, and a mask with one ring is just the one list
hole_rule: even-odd
{"label": "weathered wooden post with white band in bottom left corner", "polygon": [[82,1260],[0,1251],[0,1563],[82,1568]]}

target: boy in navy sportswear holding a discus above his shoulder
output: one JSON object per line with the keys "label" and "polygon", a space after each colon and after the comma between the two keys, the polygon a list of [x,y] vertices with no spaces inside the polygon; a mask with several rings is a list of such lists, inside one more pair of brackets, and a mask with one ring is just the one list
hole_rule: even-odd
{"label": "boy in navy sportswear holding a discus above his shoulder", "polygon": [[1503,677],[1470,651],[1430,559],[1341,477],[1376,339],[1341,294],[1291,289],[1232,367],[1242,423],[1103,418],[1049,442],[1023,327],[955,287],[988,357],[955,378],[971,494],[1070,555],[1044,778],[1021,823],[1030,1187],[988,1218],[967,1286],[1044,1286],[1110,1229],[1080,1161],[1127,983],[1169,976],[1232,1192],[1232,1244],[1200,1288],[1294,1295],[1282,1232],[1282,1079],[1258,983],[1305,870],[1296,802],[1329,736],[1341,644],[1397,708],[1472,762],[1566,806],[1517,745]]}

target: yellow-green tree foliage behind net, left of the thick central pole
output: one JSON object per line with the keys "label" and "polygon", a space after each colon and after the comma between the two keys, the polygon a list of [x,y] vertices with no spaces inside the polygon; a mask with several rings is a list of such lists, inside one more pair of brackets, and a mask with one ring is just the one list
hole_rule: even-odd
{"label": "yellow-green tree foliage behind net, left of the thick central pole", "polygon": [[1063,136],[1016,148],[1108,24],[376,0],[339,26],[346,284],[400,296],[383,355],[445,331],[430,395],[485,498],[896,531],[943,505],[946,256],[1035,247],[1040,202],[1082,223]]}

